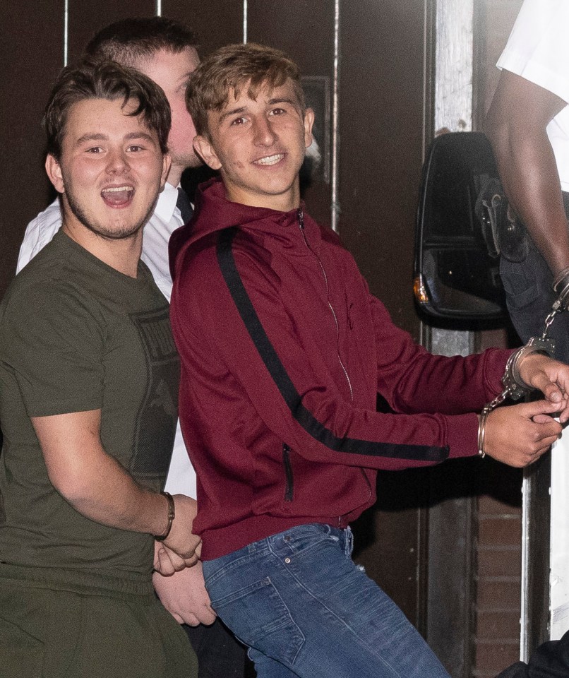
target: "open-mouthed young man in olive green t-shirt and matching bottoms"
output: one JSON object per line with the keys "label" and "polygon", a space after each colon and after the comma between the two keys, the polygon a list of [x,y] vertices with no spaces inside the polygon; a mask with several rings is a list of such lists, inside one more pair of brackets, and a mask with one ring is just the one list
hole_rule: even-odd
{"label": "open-mouthed young man in olive green t-shirt and matching bottoms", "polygon": [[140,262],[169,106],[138,71],[82,64],[44,125],[63,227],[0,307],[0,672],[193,678],[151,581],[155,537],[188,565],[199,542],[195,501],[160,492],[179,364]]}

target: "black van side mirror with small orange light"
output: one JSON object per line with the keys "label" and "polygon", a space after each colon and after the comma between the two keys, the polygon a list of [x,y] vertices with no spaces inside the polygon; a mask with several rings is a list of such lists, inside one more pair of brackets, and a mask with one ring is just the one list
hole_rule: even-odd
{"label": "black van side mirror with small orange light", "polygon": [[[494,186],[501,191],[484,134],[451,132],[433,140],[423,167],[413,283],[417,304],[428,316],[465,321],[507,317],[493,230],[496,215],[488,210],[493,198],[505,198],[493,195]],[[485,189],[489,197],[480,200]]]}

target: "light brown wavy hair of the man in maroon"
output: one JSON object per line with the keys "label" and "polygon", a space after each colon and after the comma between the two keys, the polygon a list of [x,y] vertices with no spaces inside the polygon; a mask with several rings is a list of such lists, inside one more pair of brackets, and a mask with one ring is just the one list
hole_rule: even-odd
{"label": "light brown wavy hair of the man in maroon", "polygon": [[248,96],[256,99],[261,88],[280,87],[287,80],[292,81],[304,112],[299,67],[285,52],[254,42],[217,49],[193,71],[186,90],[186,106],[196,132],[208,135],[208,112],[224,108],[229,90],[234,90],[235,97],[239,97],[248,84]]}

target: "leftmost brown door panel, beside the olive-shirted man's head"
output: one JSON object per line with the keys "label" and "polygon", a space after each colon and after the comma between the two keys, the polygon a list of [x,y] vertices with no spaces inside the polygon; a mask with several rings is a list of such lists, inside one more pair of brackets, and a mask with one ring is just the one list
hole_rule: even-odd
{"label": "leftmost brown door panel, beside the olive-shirted man's head", "polygon": [[41,120],[64,59],[64,3],[0,3],[0,297],[16,271],[30,219],[47,205]]}

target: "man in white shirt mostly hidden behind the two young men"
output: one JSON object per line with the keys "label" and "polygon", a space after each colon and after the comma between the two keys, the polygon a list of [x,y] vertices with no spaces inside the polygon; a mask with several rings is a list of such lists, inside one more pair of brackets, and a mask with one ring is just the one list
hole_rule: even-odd
{"label": "man in white shirt mostly hidden behind the two young men", "polygon": [[[150,268],[160,291],[170,300],[172,278],[168,265],[168,242],[176,228],[191,218],[188,196],[180,187],[184,169],[198,167],[193,150],[196,131],[186,109],[186,85],[199,64],[196,35],[180,23],[164,17],[128,18],[108,25],[85,47],[92,59],[113,59],[142,71],[160,85],[172,110],[168,137],[172,166],[158,196],[154,213],[144,227],[142,260]],[[59,198],[28,225],[18,256],[17,272],[52,240],[61,227]],[[179,424],[165,489],[171,494],[196,497],[196,474],[184,446]],[[157,545],[156,558],[160,557]],[[164,607],[184,629],[198,655],[199,678],[241,678],[244,648],[216,619],[203,585],[201,564],[173,576],[155,573],[155,590]]]}

